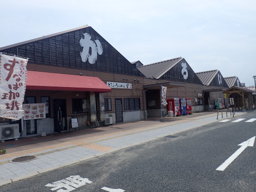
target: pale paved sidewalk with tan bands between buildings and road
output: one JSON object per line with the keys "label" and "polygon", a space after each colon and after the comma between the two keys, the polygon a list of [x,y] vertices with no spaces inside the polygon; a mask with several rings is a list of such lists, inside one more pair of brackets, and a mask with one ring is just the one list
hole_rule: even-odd
{"label": "pale paved sidewalk with tan bands between buildings and road", "polygon": [[[239,114],[243,113],[236,112],[236,116]],[[223,118],[226,118],[226,114],[223,114]],[[164,117],[163,122],[159,119],[0,143],[1,150],[7,151],[7,154],[0,155],[0,186],[218,121],[217,112]]]}

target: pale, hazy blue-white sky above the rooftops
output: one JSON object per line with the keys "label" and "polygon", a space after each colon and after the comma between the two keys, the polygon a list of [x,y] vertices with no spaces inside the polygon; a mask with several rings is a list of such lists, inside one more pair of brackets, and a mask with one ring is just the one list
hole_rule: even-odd
{"label": "pale, hazy blue-white sky above the rooftops", "polygon": [[2,0],[1,15],[0,47],[88,25],[130,62],[183,57],[254,86],[254,0]]}

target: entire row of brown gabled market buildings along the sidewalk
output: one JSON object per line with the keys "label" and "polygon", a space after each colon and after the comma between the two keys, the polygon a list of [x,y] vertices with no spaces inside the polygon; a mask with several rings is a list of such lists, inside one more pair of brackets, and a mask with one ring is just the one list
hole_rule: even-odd
{"label": "entire row of brown gabled market buildings along the sidewalk", "polygon": [[[208,110],[209,103],[216,109],[227,104],[223,91],[229,86],[219,70],[195,73],[182,57],[150,65],[130,62],[89,26],[6,46],[0,52],[29,58],[24,117],[0,118],[0,131],[15,124],[21,137],[165,116],[174,98],[190,101],[187,114]],[[0,140],[12,138],[10,130]]]}

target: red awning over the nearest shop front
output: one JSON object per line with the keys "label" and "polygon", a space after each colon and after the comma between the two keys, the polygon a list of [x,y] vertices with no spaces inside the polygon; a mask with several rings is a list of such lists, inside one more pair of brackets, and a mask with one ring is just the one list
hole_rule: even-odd
{"label": "red awning over the nearest shop front", "polygon": [[27,72],[27,90],[57,90],[57,91],[91,91],[111,92],[98,77],[46,73],[38,71]]}

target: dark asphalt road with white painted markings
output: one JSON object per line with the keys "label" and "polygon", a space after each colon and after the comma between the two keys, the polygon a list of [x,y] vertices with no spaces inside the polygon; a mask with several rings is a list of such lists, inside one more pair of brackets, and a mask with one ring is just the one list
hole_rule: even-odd
{"label": "dark asphalt road with white painted markings", "polygon": [[246,147],[225,170],[216,170],[242,147],[238,144],[255,136],[254,118],[254,112],[246,113],[159,137],[2,186],[0,191],[51,191],[53,182],[74,179],[76,184],[69,185],[74,191],[256,191],[255,145]]}

